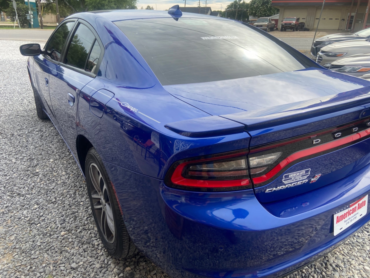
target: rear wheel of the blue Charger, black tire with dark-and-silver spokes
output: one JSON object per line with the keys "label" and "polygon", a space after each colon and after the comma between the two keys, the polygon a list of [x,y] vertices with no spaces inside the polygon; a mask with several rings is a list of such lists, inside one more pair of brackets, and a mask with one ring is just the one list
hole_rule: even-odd
{"label": "rear wheel of the blue Charger, black tire with dark-and-silver spokes", "polygon": [[108,253],[117,259],[134,254],[136,247],[128,235],[112,183],[94,148],[86,155],[85,176],[92,215]]}

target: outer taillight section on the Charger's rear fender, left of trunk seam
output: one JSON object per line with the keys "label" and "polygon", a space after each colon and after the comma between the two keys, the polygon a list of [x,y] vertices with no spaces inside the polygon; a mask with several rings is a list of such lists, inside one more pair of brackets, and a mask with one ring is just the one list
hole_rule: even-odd
{"label": "outer taillight section on the Charger's rear fender, left of trunk seam", "polygon": [[252,188],[247,152],[180,160],[172,165],[166,184],[195,191],[230,191]]}

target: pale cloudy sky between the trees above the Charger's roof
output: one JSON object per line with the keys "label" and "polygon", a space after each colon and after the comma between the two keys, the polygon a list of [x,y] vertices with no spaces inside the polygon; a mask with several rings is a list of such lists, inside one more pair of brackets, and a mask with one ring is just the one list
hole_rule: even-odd
{"label": "pale cloudy sky between the trees above the Charger's roof", "polygon": [[[229,5],[232,0],[223,2],[222,0],[207,0],[207,7],[211,7],[212,11],[225,10],[226,6]],[[157,4],[157,5],[156,5]],[[184,7],[184,0],[138,0],[136,6],[138,9],[143,7],[144,9],[149,5],[157,10],[167,10],[174,5],[180,5]],[[186,7],[198,7],[199,0],[186,0]],[[205,0],[201,0],[201,7],[205,7]]]}

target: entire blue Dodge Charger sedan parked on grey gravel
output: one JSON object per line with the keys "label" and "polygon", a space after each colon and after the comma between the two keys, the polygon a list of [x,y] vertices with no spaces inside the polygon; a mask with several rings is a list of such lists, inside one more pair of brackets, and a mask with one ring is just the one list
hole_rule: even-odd
{"label": "entire blue Dodge Charger sedan parked on grey gravel", "polygon": [[101,240],[172,277],[279,277],[370,219],[370,82],[201,14],[73,14],[25,44]]}

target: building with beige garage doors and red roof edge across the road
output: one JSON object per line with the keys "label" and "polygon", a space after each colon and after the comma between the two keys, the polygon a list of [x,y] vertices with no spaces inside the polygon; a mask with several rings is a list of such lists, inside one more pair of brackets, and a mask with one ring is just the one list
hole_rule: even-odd
{"label": "building with beige garage doors and red roof edge across the road", "polygon": [[[319,29],[345,30],[350,13],[349,29],[352,27],[354,31],[363,29],[368,3],[368,0],[326,0]],[[323,0],[272,0],[272,6],[280,9],[279,22],[285,17],[299,17],[300,22],[305,22],[305,27],[310,29],[317,26],[322,4]],[[353,21],[354,16],[356,20]],[[370,16],[366,25],[370,26]]]}

